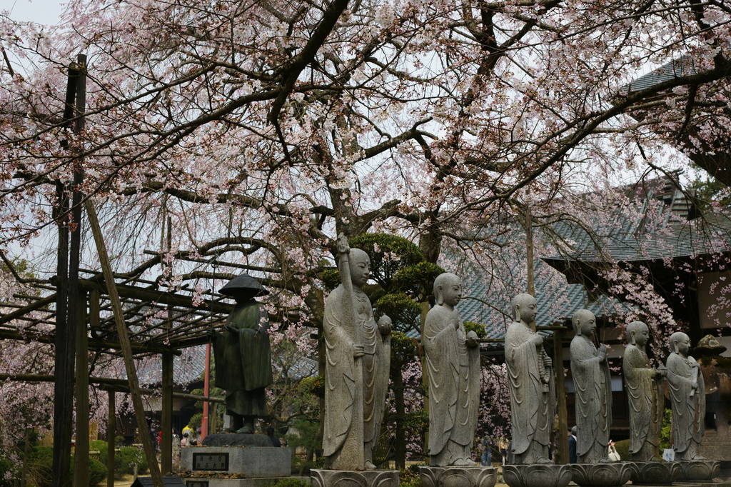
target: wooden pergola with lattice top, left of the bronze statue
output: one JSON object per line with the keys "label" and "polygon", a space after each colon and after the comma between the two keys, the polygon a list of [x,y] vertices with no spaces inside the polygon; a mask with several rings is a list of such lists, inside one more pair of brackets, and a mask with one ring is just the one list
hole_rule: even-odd
{"label": "wooden pergola with lattice top, left of the bronze statue", "polygon": [[[153,257],[144,267],[148,268],[160,260]],[[34,374],[0,374],[0,380],[18,380],[24,382],[56,382],[56,388],[66,390],[67,398],[75,397],[76,407],[76,458],[88,456],[88,385],[106,390],[109,394],[109,424],[107,439],[109,452],[107,468],[110,474],[107,485],[113,486],[114,470],[114,431],[115,431],[115,393],[135,393],[130,385],[129,377],[91,377],[88,368],[88,352],[96,352],[111,357],[124,358],[124,340],[120,339],[115,328],[113,298],[107,288],[102,273],[80,271],[77,295],[80,297],[80,317],[75,323],[69,323],[65,330],[57,326],[58,295],[66,292],[64,282],[57,276],[48,282],[31,284],[32,292],[15,293],[14,302],[0,303],[0,306],[13,309],[0,315],[0,339],[18,341],[38,341],[58,344],[67,339],[67,333],[75,335],[74,362],[72,377],[67,377],[62,369],[54,375]],[[220,328],[227,315],[233,309],[231,303],[225,302],[227,297],[216,292],[202,292],[200,303],[194,292],[183,289],[177,292],[162,290],[155,282],[135,277],[134,274],[117,274],[113,279],[113,289],[118,295],[122,315],[126,327],[129,350],[132,357],[141,358],[159,355],[162,369],[162,473],[172,469],[172,416],[173,397],[194,399],[199,401],[221,402],[221,399],[195,396],[192,394],[173,392],[173,357],[181,355],[181,350],[206,344],[211,333]],[[68,355],[68,354],[67,354]],[[159,391],[137,388],[137,394],[156,394]],[[56,399],[58,401],[58,398]],[[54,443],[55,450],[70,456],[70,425],[64,423],[63,414],[70,412],[73,401],[67,401],[62,411],[54,414],[54,439],[59,435],[67,438]],[[56,405],[58,406],[58,404]],[[61,414],[59,414],[59,412]],[[87,418],[80,420],[80,418]],[[61,430],[61,431],[59,431]],[[140,435],[145,437],[145,435]],[[148,435],[147,435],[148,436]],[[156,461],[148,458],[148,464]],[[86,462],[77,461],[75,467],[75,485],[88,485],[83,478],[88,476]],[[61,475],[61,472],[54,472]]]}

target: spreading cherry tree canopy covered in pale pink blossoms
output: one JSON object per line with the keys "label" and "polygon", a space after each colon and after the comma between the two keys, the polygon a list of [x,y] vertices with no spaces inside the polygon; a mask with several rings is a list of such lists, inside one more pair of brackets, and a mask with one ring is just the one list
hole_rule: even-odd
{"label": "spreading cherry tree canopy covered in pale pink blossoms", "polygon": [[[83,167],[77,189],[102,205],[116,268],[199,297],[255,273],[276,290],[275,339],[319,326],[341,231],[404,235],[443,267],[468,256],[507,294],[524,287],[526,208],[549,252],[572,246],[553,225],[589,215],[601,243],[601,225],[635,208],[607,207],[627,201],[611,188],[687,157],[729,183],[730,13],[697,0],[71,0],[59,26],[0,15],[0,246],[34,254],[47,279],[56,182]],[[88,106],[72,134],[79,52]],[[670,61],[687,67],[631,84]],[[93,252],[83,265],[98,268]]]}

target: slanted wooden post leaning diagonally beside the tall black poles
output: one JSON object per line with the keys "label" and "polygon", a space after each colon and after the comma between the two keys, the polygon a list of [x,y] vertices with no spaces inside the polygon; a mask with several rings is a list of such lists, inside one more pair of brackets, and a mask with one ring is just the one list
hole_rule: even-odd
{"label": "slanted wooden post leaning diagonally beside the tall black poles", "polygon": [[107,246],[104,243],[102,228],[99,226],[99,217],[96,216],[96,209],[94,208],[94,203],[91,203],[91,200],[86,200],[84,206],[88,214],[91,233],[94,234],[96,252],[99,255],[99,263],[102,265],[102,272],[104,273],[104,282],[107,286],[107,293],[112,304],[114,322],[119,335],[119,344],[121,345],[122,355],[124,356],[124,368],[127,373],[127,379],[129,380],[129,395],[132,398],[132,405],[135,409],[137,429],[140,431],[140,439],[145,450],[145,456],[147,457],[152,482],[155,487],[163,487],[155,448],[150,438],[147,420],[145,420],[145,407],[143,406],[142,394],[140,393],[140,381],[137,380],[135,362],[132,360],[132,345],[129,343],[129,335],[127,335],[127,328],[124,325],[124,312],[122,311],[122,304],[119,301],[119,295],[114,282],[114,274],[109,255],[107,254]]}

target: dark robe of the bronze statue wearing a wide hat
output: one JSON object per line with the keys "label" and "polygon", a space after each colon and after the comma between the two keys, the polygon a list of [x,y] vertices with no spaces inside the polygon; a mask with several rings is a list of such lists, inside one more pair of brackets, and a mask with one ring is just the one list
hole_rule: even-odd
{"label": "dark robe of the bronze statue wearing a wide hat", "polygon": [[226,409],[242,416],[266,416],[265,387],[273,382],[265,312],[256,301],[237,303],[213,338],[216,387],[226,390]]}

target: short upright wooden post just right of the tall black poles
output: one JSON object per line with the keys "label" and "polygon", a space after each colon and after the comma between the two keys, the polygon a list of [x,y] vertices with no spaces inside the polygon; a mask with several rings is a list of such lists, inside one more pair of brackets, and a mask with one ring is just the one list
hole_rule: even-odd
{"label": "short upright wooden post just right of the tall black poles", "polygon": [[89,485],[89,365],[86,334],[86,293],[76,322],[76,448],[74,485]]}

